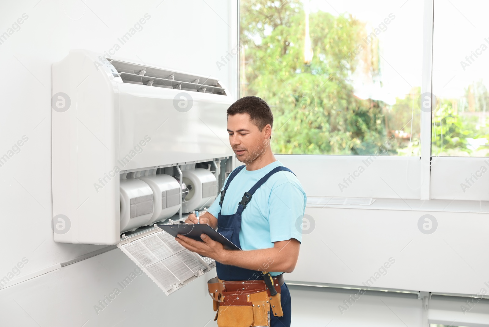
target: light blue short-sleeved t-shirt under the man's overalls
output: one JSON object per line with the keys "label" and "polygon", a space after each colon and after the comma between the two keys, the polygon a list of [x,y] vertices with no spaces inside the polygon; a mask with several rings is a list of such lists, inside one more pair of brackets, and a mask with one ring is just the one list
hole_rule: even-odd
{"label": "light blue short-sleeved t-shirt under the man's overalls", "polygon": [[[224,196],[221,194],[207,211],[217,218],[236,213],[244,192],[258,182],[273,168],[283,166],[278,160],[257,170],[243,168],[232,180]],[[229,178],[229,177],[228,177]],[[227,182],[227,178],[226,178]],[[225,185],[225,183],[224,183]],[[222,187],[224,188],[224,187]],[[306,208],[306,193],[294,174],[279,171],[253,194],[242,214],[240,244],[243,250],[273,247],[273,242],[294,238],[302,241],[302,217]],[[272,273],[272,275],[278,275]]]}

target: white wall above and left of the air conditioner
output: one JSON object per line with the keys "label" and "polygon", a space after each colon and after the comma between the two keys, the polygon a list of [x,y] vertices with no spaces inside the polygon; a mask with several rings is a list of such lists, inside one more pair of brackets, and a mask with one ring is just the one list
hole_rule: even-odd
{"label": "white wall above and left of the air conditioner", "polygon": [[[64,58],[70,49],[111,51],[112,58],[213,76],[236,97],[237,58],[220,68],[216,61],[236,46],[237,1],[34,0],[3,1],[0,6],[0,34],[8,34],[12,24],[22,21],[0,44],[0,156],[9,156],[0,166],[0,279],[12,276],[12,269],[14,277],[22,279],[101,247],[53,241],[52,63]],[[140,31],[121,45],[118,38],[145,14],[151,18],[146,17],[142,29],[136,26]],[[115,49],[114,44],[120,49],[110,50]],[[14,148],[18,153],[9,152],[23,136],[27,141],[21,142],[20,151]],[[22,258],[28,262],[20,264],[17,274],[14,266]],[[71,278],[90,273],[74,271]]]}

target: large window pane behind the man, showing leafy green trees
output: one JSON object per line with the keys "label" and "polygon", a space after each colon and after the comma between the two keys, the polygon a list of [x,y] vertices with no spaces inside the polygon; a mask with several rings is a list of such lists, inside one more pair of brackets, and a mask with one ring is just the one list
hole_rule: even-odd
{"label": "large window pane behind the man, showing leafy green trees", "polygon": [[274,153],[419,156],[422,0],[240,1],[240,96]]}

